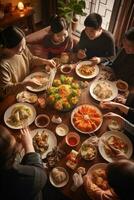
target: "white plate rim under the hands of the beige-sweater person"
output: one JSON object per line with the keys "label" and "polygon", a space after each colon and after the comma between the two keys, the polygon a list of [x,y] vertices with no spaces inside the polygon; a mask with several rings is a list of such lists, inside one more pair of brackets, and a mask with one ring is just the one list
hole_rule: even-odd
{"label": "white plate rim under the hands of the beige-sweater person", "polygon": [[[34,72],[32,74],[30,74],[29,76],[27,76],[24,81],[28,81],[32,78],[36,78],[37,76],[41,76],[43,78],[47,78],[49,81],[49,74],[44,73],[44,72]],[[32,88],[30,86],[27,86],[27,89],[32,91],[32,92],[41,92],[47,89],[47,83],[48,81],[45,82],[45,84],[43,84],[42,86],[39,86],[38,88]]]}

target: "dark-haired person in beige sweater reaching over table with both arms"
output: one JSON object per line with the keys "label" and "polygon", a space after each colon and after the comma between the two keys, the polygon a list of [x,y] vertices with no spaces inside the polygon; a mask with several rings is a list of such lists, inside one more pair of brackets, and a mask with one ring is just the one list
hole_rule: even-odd
{"label": "dark-haired person in beige sweater reaching over table with both arms", "polygon": [[53,60],[33,56],[26,46],[24,33],[14,26],[0,32],[0,97],[18,93],[26,86],[37,87],[35,80],[23,80],[35,65],[55,66]]}

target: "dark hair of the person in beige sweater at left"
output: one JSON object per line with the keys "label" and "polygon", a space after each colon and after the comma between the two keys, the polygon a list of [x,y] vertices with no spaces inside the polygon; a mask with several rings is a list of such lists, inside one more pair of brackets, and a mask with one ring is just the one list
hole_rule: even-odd
{"label": "dark hair of the person in beige sweater at left", "polygon": [[14,48],[21,42],[24,36],[25,34],[21,29],[15,26],[8,26],[0,31],[0,47]]}

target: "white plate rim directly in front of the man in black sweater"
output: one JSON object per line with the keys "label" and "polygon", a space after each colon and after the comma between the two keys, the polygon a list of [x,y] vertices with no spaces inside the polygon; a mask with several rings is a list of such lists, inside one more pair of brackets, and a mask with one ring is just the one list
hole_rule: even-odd
{"label": "white plate rim directly in front of the man in black sweater", "polygon": [[80,63],[76,66],[76,68],[75,68],[76,74],[77,74],[79,77],[84,78],[84,79],[91,79],[91,78],[94,78],[94,77],[96,77],[96,76],[98,75],[98,73],[99,73],[99,67],[98,67],[98,65],[93,66],[93,67],[94,67],[94,71],[93,71],[93,73],[91,73],[91,75],[84,75],[84,74],[82,74],[82,73],[80,72],[80,68],[81,68],[83,65],[91,65],[91,61],[82,61],[82,62],[80,62]]}

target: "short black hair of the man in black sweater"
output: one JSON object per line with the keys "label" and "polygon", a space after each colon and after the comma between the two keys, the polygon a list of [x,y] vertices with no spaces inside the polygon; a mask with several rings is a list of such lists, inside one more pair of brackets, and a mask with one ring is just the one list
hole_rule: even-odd
{"label": "short black hair of the man in black sweater", "polygon": [[102,17],[97,13],[89,14],[84,21],[84,25],[86,27],[92,27],[96,30],[101,27],[101,24],[102,24]]}

